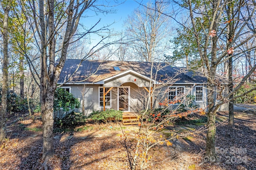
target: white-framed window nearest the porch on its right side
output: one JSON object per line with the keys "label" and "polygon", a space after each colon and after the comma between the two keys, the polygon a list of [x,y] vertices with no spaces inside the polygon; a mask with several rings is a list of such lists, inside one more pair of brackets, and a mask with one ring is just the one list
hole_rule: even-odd
{"label": "white-framed window nearest the porch on its right side", "polygon": [[185,87],[169,87],[168,91],[168,103],[178,104],[177,100],[182,100],[182,96],[185,93]]}

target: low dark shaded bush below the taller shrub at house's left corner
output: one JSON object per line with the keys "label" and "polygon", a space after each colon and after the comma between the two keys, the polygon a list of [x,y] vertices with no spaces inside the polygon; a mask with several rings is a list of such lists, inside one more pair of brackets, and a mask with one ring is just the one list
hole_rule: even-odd
{"label": "low dark shaded bush below the taller shrub at house's left corner", "polygon": [[68,113],[64,118],[55,121],[56,127],[74,128],[77,126],[85,125],[86,117],[82,113],[74,111]]}

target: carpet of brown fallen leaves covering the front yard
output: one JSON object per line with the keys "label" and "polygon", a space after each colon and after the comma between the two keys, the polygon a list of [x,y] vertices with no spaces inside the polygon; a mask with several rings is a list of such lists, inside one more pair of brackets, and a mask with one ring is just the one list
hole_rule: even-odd
{"label": "carpet of brown fallen leaves covering the front yard", "polygon": [[[248,163],[241,164],[241,166],[244,166],[247,169],[253,169],[256,166],[256,163],[251,161],[256,159],[256,154],[254,154],[256,153],[256,146],[254,145],[256,140],[256,119],[252,119],[252,115],[247,116],[244,115],[244,113],[241,113],[241,115],[243,115],[244,117],[242,119],[235,119],[236,123],[234,128],[228,128],[228,125],[221,125],[217,127],[216,144],[220,148],[230,146],[246,148],[248,152],[246,152],[246,154],[244,154],[243,156],[248,159]],[[28,122],[29,121],[24,121],[24,124]],[[25,126],[33,128],[41,127],[42,124],[40,123],[40,121],[37,121],[35,123],[30,122],[28,124],[25,124]],[[55,155],[50,160],[49,170],[130,170],[128,155],[134,155],[134,148],[136,144],[133,143],[133,140],[127,139],[125,141],[125,138],[121,137],[121,135],[124,136],[124,134],[122,134],[122,129],[120,128],[120,125],[112,125],[113,128],[111,128],[111,130],[107,127],[104,128],[104,130],[102,128],[96,128],[96,126],[100,125],[90,126],[94,126],[94,130],[86,132],[74,132],[74,134],[72,134],[72,139],[65,140],[63,142],[60,142],[61,137],[65,135],[68,136],[70,134],[54,134],[54,136],[60,136],[60,138],[54,139]],[[112,130],[117,129],[118,127],[120,129]],[[125,129],[125,131],[127,131],[127,129]],[[10,133],[19,134],[15,136],[12,134],[8,134],[14,137],[10,137],[10,140],[7,140],[1,145],[2,148],[0,149],[0,169],[41,169],[42,132],[21,130],[19,126],[12,126],[12,132]],[[34,134],[38,134],[38,136],[36,136],[36,138],[28,138],[28,136],[32,136]],[[97,134],[103,135],[102,137],[94,137]],[[87,137],[80,138],[81,136]],[[170,136],[176,136],[176,134],[173,134],[171,131]],[[190,144],[189,152],[196,152],[200,149],[204,150],[205,136],[205,134],[195,136],[195,140],[193,140],[193,142]],[[161,134],[160,138],[165,137]],[[156,142],[156,140],[152,139],[149,142]],[[172,141],[163,140],[163,142],[166,143],[166,145],[169,147],[167,147],[166,145],[162,146],[162,148],[160,148],[161,152],[153,148],[153,150],[150,151],[150,155],[152,155],[152,157],[147,157],[148,166],[146,167],[146,169],[164,170],[169,167],[173,167],[173,165],[181,164],[181,162],[179,161],[163,162],[163,160],[166,158],[165,154],[168,153],[168,148],[174,147],[172,146]],[[175,145],[175,143],[173,145]],[[225,155],[220,156],[222,156],[221,161],[223,162]],[[187,161],[191,160],[184,160],[183,164],[186,165],[186,167],[184,166],[185,169],[188,168],[189,165],[198,164],[198,162],[187,163]],[[151,164],[150,162],[153,162],[154,164]],[[237,166],[237,164],[224,165],[227,169],[236,169]],[[201,170],[217,170],[218,166],[211,165],[210,167],[208,165],[204,165],[202,167],[199,167],[199,170],[200,168]],[[198,167],[196,167],[196,169],[198,169]]]}

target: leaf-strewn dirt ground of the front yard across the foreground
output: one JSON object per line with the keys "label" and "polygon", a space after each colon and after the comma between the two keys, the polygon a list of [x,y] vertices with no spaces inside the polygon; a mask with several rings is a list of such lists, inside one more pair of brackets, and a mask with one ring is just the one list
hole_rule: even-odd
{"label": "leaf-strewn dirt ground of the front yard across the foreground", "polygon": [[[237,107],[234,127],[230,128],[227,121],[217,127],[219,164],[202,163],[206,147],[206,132],[202,132],[189,140],[177,140],[172,147],[152,148],[149,154],[153,156],[145,169],[256,170],[256,106]],[[218,117],[228,119],[228,114],[221,112]],[[55,155],[50,170],[130,170],[135,145],[124,133],[136,131],[138,126],[88,124],[83,129],[54,133]],[[40,170],[42,122],[33,122],[26,115],[8,115],[7,132],[9,139],[0,146],[0,169]]]}

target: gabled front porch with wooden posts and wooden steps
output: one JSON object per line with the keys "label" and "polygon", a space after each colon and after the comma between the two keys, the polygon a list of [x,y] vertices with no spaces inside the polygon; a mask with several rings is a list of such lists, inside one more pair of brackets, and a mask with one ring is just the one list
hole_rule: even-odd
{"label": "gabled front porch with wooden posts and wooden steps", "polygon": [[[123,125],[137,125],[139,115],[136,113],[145,108],[145,103],[148,100],[150,100],[149,107],[153,108],[152,89],[156,82],[149,77],[128,70],[104,79],[101,83],[103,111],[106,110],[106,107],[123,111]],[[151,96],[150,99],[147,98],[148,94]],[[106,101],[106,99],[110,101]],[[108,103],[108,106],[106,106],[106,103]]]}

